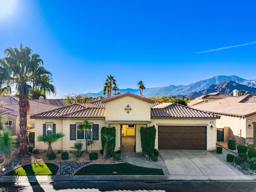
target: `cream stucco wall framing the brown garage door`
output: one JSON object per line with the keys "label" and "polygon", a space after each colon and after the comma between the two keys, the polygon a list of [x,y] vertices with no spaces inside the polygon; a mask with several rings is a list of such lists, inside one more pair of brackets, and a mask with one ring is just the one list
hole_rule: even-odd
{"label": "cream stucco wall framing the brown garage door", "polygon": [[[158,130],[158,125],[166,126],[207,126],[206,128],[206,149],[215,150],[216,149],[216,122],[215,119],[151,119],[152,124],[156,126]],[[210,122],[214,122],[210,124]],[[150,125],[150,126],[151,126]],[[210,126],[213,126],[213,129]],[[156,132],[156,149],[158,149],[158,131]]]}

